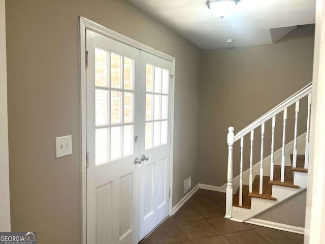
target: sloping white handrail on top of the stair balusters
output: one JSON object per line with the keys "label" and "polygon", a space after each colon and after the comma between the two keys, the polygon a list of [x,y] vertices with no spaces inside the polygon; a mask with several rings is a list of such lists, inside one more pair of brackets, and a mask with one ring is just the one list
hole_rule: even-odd
{"label": "sloping white handrail on top of the stair balusters", "polygon": [[285,108],[289,107],[290,105],[293,105],[294,103],[296,103],[297,101],[299,101],[300,99],[302,99],[303,97],[311,93],[312,86],[313,83],[310,82],[309,84],[307,84],[306,86],[298,90],[297,93],[290,96],[289,98],[287,98],[286,100],[284,100],[283,102],[281,102],[280,104],[272,108],[270,111],[268,111],[267,113],[265,113],[264,115],[256,119],[253,123],[249,124],[244,129],[237,132],[237,134],[234,136],[234,142],[238,141],[240,138],[247,135],[257,127],[261,126],[263,123],[271,119],[273,116],[282,112]]}

